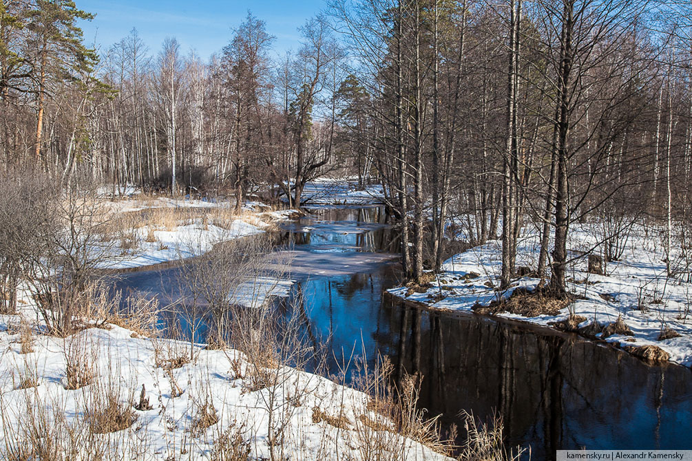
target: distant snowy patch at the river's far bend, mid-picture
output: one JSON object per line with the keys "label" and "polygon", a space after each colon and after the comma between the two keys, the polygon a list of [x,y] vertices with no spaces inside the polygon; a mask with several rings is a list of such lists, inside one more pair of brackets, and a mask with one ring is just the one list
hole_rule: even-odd
{"label": "distant snowy patch at the river's far bend, mid-picture", "polygon": [[354,178],[320,178],[308,182],[302,192],[305,205],[372,205],[382,203],[381,185],[358,186]]}

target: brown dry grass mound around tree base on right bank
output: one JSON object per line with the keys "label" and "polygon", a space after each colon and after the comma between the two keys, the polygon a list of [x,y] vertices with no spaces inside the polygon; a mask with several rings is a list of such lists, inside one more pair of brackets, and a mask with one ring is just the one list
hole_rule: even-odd
{"label": "brown dry grass mound around tree base on right bank", "polygon": [[547,290],[528,291],[517,288],[509,298],[493,301],[489,305],[477,304],[473,306],[473,310],[480,314],[509,312],[523,317],[537,317],[543,314],[554,316],[558,315],[571,302],[572,299],[555,297]]}

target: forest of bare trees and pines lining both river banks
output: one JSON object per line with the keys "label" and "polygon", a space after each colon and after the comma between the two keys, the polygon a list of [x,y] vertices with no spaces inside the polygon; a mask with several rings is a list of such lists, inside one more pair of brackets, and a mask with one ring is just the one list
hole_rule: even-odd
{"label": "forest of bare trees and pines lining both river banks", "polygon": [[174,38],[152,53],[136,30],[97,54],[72,1],[0,14],[6,170],[294,207],[309,180],[357,176],[385,187],[416,280],[446,255],[450,216],[471,243],[502,238],[504,284],[531,223],[558,293],[589,216],[610,247],[644,218],[687,244],[671,223],[690,218],[684,3],[332,0],[281,60],[251,13],[209,59]]}

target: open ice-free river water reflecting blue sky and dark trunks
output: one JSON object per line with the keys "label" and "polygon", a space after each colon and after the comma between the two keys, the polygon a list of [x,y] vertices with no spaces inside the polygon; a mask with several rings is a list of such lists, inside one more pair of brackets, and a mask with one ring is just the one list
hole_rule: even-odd
{"label": "open ice-free river water reflecting blue sky and dark trunks", "polygon": [[[318,256],[309,270],[296,270],[293,295],[302,295],[311,335],[329,337],[329,373],[338,373],[335,357],[352,351],[369,361],[387,355],[397,373],[424,375],[420,403],[431,415],[462,426],[462,410],[481,419],[497,411],[509,444],[531,446],[534,460],[581,447],[692,449],[688,368],[648,366],[574,335],[383,299],[399,272],[391,258],[370,253],[397,245],[381,208],[322,210],[282,232],[295,264]],[[175,276],[140,272],[118,283],[161,294],[176,290]]]}

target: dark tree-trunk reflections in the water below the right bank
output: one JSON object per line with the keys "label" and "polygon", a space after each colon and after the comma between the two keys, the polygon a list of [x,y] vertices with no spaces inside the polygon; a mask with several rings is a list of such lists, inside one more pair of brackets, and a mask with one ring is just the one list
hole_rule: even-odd
{"label": "dark tree-trunk reflections in the water below the right bank", "polygon": [[462,409],[496,409],[509,443],[531,444],[534,459],[583,446],[692,449],[687,368],[648,366],[571,335],[390,304],[406,331],[395,340],[398,364],[424,374],[421,405],[447,422],[458,425]]}

